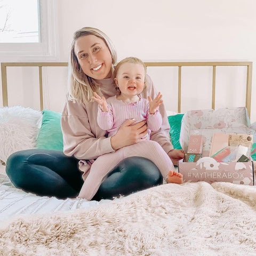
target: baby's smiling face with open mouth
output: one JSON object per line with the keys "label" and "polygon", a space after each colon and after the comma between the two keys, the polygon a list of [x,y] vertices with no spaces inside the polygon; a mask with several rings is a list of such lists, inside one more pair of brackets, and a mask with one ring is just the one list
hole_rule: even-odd
{"label": "baby's smiling face with open mouth", "polygon": [[141,64],[123,63],[117,72],[115,82],[126,97],[138,95],[145,84],[145,69]]}

